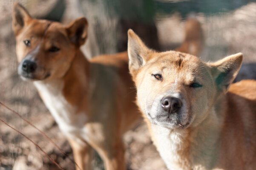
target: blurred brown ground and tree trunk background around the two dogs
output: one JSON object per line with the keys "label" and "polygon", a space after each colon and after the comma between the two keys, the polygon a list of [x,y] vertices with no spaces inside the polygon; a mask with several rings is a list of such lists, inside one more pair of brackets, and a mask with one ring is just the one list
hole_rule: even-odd
{"label": "blurred brown ground and tree trunk background around the two dogs", "polygon": [[[244,54],[240,77],[256,77],[256,2],[254,0],[17,0],[36,18],[69,23],[85,16],[89,36],[82,50],[86,57],[127,50],[127,30],[132,28],[146,44],[159,51],[178,47],[185,38],[187,17],[203,31],[198,57],[215,61],[229,54]],[[46,132],[69,156],[68,142],[30,82],[17,75],[12,32],[14,0],[0,0],[0,102],[18,111]],[[37,142],[66,170],[74,164],[38,131],[0,105],[0,118]],[[141,122],[124,136],[128,170],[166,170]],[[99,157],[95,170],[103,170]],[[46,156],[20,134],[0,122],[0,170],[55,170]]]}

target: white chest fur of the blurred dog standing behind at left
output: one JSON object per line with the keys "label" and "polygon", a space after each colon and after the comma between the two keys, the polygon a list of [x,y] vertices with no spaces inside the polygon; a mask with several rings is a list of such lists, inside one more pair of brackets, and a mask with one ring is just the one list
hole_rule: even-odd
{"label": "white chest fur of the blurred dog standing behind at left", "polygon": [[63,82],[61,80],[34,82],[34,84],[64,135],[80,138],[83,133],[86,133],[83,128],[87,121],[86,114],[77,113],[77,107],[66,101],[62,94]]}

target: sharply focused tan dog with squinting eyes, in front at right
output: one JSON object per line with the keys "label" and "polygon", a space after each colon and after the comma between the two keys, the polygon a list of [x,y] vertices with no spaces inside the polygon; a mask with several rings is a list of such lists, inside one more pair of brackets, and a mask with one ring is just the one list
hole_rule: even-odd
{"label": "sharply focused tan dog with squinting eyes, in front at right", "polygon": [[256,81],[230,85],[242,54],[205,63],[190,54],[155,52],[132,30],[128,37],[137,104],[167,167],[254,170]]}

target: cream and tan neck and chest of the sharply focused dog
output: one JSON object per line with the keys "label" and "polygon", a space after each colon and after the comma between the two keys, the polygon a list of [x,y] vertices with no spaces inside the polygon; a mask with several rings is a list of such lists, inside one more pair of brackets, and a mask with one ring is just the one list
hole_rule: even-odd
{"label": "cream and tan neck and chest of the sharply focused dog", "polygon": [[216,163],[219,118],[212,109],[197,127],[170,130],[151,125],[152,138],[170,170],[211,169]]}

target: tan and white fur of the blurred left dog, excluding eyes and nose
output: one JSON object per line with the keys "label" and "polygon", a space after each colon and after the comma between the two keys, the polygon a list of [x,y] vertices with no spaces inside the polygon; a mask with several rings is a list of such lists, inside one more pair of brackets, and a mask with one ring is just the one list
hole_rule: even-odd
{"label": "tan and white fur of the blurred left dog, excluding eyes and nose", "polygon": [[[13,16],[19,74],[24,60],[37,62],[37,70],[25,79],[34,82],[78,166],[92,168],[93,148],[107,170],[126,169],[122,134],[140,118],[127,52],[87,60],[79,49],[87,37],[85,18],[64,26],[36,20],[18,4]],[[30,45],[24,40],[30,40]],[[52,46],[60,50],[50,52]]]}

